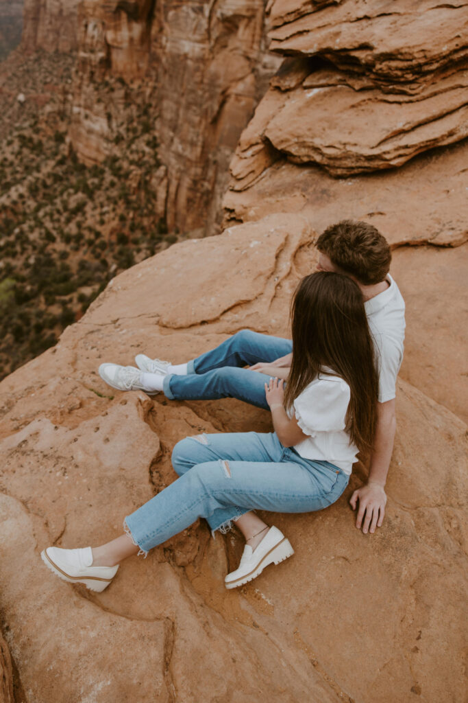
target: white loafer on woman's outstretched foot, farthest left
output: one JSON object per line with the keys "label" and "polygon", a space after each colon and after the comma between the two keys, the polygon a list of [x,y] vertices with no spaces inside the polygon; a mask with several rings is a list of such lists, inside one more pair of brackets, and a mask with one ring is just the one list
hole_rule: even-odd
{"label": "white loafer on woman's outstretched foot, farthest left", "polygon": [[119,569],[116,567],[93,567],[91,547],[83,549],[60,549],[48,547],[41,552],[46,567],[59,579],[69,583],[84,583],[91,591],[104,591]]}

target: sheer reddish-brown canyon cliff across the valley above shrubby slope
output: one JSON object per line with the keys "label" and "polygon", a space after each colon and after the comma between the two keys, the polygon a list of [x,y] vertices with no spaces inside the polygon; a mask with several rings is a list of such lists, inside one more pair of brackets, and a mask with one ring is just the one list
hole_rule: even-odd
{"label": "sheer reddish-brown canyon cliff across the valley above shrubby slope", "polygon": [[[113,152],[114,117],[138,93],[161,160],[157,214],[171,230],[211,232],[239,135],[281,63],[267,53],[264,18],[263,0],[85,0],[70,129],[80,159]],[[116,77],[123,86],[108,99]]]}

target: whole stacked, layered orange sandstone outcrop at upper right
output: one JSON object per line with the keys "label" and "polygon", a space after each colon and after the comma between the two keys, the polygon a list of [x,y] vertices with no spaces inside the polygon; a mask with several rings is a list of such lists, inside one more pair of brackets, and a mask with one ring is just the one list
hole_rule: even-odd
{"label": "whole stacked, layered orange sandstone outcrop at upper right", "polygon": [[467,136],[465,3],[276,0],[269,21],[287,58],[239,140],[232,191],[281,158],[345,177]]}

